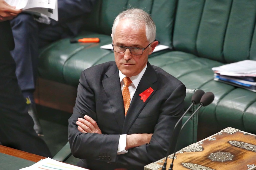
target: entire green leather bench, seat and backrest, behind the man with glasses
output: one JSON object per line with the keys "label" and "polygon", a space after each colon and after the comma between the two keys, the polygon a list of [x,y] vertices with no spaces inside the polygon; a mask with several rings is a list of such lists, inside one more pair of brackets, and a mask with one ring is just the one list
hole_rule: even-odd
{"label": "entire green leather bench, seat and backrest, behind the man with glasses", "polygon": [[[198,140],[233,127],[256,134],[256,93],[213,80],[212,67],[245,59],[256,60],[255,0],[99,0],[84,16],[77,38],[98,37],[99,43],[56,41],[41,49],[42,79],[76,87],[80,72],[113,61],[111,43],[114,18],[124,9],[142,8],[151,14],[157,40],[170,49],[149,56],[181,80],[187,88],[211,91],[215,99],[198,115]],[[256,67],[256,66],[255,66]]]}

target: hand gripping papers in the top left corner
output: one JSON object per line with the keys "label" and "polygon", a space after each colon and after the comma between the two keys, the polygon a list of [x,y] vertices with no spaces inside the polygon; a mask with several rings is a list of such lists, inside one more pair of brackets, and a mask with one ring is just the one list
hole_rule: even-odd
{"label": "hand gripping papers in the top left corner", "polygon": [[20,12],[22,12],[22,9],[15,9],[15,8],[16,7],[13,7],[7,4],[4,0],[0,0],[0,22],[12,20]]}

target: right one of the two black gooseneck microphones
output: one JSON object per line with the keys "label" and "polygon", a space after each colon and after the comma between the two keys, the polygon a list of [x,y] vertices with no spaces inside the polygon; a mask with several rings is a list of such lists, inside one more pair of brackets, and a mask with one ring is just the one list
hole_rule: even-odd
{"label": "right one of the two black gooseneck microphones", "polygon": [[[213,102],[214,100],[214,94],[212,92],[206,92],[201,100],[200,100],[200,106],[191,114],[191,116],[189,116],[189,118],[186,120],[186,122],[182,125],[180,132],[178,134],[178,137],[181,133],[181,130],[184,128],[184,126],[187,124],[187,122],[194,116],[194,114],[202,107],[202,106],[208,106],[209,104],[211,104],[211,102]],[[175,153],[176,153],[176,147],[177,147],[177,143],[175,144],[175,148],[174,148],[174,153],[173,153],[173,160],[172,163],[170,164],[170,168],[168,170],[173,170],[173,161],[174,161],[174,157],[175,157]]]}

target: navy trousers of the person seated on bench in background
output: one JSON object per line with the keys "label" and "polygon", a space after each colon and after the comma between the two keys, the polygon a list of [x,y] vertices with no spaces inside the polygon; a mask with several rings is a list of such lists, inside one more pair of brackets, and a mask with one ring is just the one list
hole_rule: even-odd
{"label": "navy trousers of the person seated on bench in background", "polygon": [[11,20],[15,48],[11,51],[16,63],[16,75],[21,90],[34,90],[37,80],[39,48],[72,36],[64,24],[47,25],[21,13]]}

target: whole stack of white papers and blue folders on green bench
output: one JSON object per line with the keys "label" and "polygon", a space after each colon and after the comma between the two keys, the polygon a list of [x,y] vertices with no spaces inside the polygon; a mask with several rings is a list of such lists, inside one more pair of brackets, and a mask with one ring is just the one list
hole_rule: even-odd
{"label": "whole stack of white papers and blue folders on green bench", "polygon": [[244,60],[213,67],[214,80],[256,92],[256,61]]}

